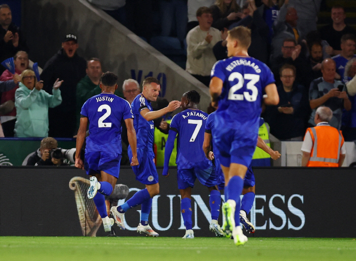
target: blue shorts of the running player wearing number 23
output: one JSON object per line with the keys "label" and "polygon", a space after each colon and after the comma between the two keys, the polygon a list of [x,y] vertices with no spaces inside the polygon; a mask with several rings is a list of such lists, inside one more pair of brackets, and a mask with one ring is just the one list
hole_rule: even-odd
{"label": "blue shorts of the running player wearing number 23", "polygon": [[214,132],[213,143],[219,152],[220,163],[230,167],[231,163],[249,167],[255,152],[258,133],[241,129],[221,128]]}

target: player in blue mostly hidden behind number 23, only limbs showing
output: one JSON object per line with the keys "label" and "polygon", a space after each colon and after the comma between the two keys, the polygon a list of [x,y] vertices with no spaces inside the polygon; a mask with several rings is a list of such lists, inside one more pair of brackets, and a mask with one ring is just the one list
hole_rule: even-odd
{"label": "player in blue mostly hidden behind number 23, only limbs showing", "polygon": [[[218,153],[213,153],[211,151],[212,148],[212,133],[215,132],[214,119],[216,112],[213,112],[207,116],[206,125],[205,125],[205,135],[204,135],[204,143],[203,150],[205,152],[205,156],[213,160],[215,159],[215,176],[218,181],[219,190],[224,189],[225,179],[224,173],[220,167],[220,160]],[[213,144],[214,146],[214,144]],[[262,138],[258,137],[257,139],[257,147],[270,154],[271,158],[276,160],[281,154],[278,151],[274,151],[267,144],[264,143]],[[245,227],[246,232],[255,233],[255,227],[247,218],[248,213],[253,205],[253,201],[255,200],[255,176],[252,171],[251,164],[246,171],[246,175],[244,178],[244,188],[242,190],[243,198],[241,200],[241,210],[240,213],[235,212],[235,215],[240,215],[240,222]],[[239,218],[235,216],[235,219]]]}

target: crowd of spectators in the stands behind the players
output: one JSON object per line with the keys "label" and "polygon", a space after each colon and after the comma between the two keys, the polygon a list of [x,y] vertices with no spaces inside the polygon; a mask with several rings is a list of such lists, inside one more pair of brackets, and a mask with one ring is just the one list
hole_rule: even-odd
{"label": "crowd of spectators in the stands behind the players", "polygon": [[[342,6],[333,6],[332,23],[317,29],[321,0],[88,2],[149,43],[157,37],[162,44],[168,38],[177,39],[187,53],[186,71],[207,86],[214,63],[227,57],[227,30],[249,27],[248,52],[271,68],[280,96],[278,105],[262,111],[271,134],[282,141],[301,141],[307,127],[315,126],[317,108],[327,106],[333,111],[331,126],[343,131],[345,141],[356,140],[356,30],[345,24]],[[150,19],[150,10],[155,8],[161,13],[156,30]],[[77,37],[68,34],[61,49],[48,57],[37,81],[28,65],[30,50],[21,29],[12,22],[8,5],[0,5],[0,25],[0,61],[14,57],[15,66],[15,75],[1,67],[0,81],[16,83],[1,93],[4,135],[0,132],[0,136],[72,138],[78,131],[82,105],[101,92],[100,57],[80,57]],[[139,83],[128,79],[115,94],[131,103],[139,92]],[[162,132],[169,128],[165,120],[155,122]],[[127,138],[123,143],[124,148],[128,146]]]}

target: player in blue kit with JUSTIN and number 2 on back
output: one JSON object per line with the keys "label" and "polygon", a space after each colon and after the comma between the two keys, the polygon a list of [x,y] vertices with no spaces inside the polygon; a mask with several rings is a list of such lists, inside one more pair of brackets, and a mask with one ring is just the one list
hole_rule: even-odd
{"label": "player in blue kit with JUSTIN and number 2 on back", "polygon": [[[129,143],[136,148],[136,133],[133,126],[133,114],[130,104],[114,94],[117,89],[117,76],[106,72],[101,76],[102,92],[88,99],[81,108],[80,126],[77,135],[75,167],[86,170],[90,175],[89,199],[103,220],[105,232],[110,232],[114,220],[106,211],[105,196],[110,195],[120,172],[122,154],[121,124],[125,121]],[[89,124],[89,136],[86,138],[85,163],[80,159],[86,127]],[[136,150],[132,153],[131,166],[137,166]],[[99,193],[97,193],[99,192]]]}

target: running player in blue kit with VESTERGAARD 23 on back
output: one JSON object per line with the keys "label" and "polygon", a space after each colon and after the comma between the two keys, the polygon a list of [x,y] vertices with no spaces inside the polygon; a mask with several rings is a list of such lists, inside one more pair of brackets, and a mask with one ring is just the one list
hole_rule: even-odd
{"label": "running player in blue kit with VESTERGAARD 23 on back", "polygon": [[248,55],[251,30],[244,26],[228,31],[227,56],[212,69],[210,94],[212,105],[218,107],[214,120],[221,126],[213,133],[225,177],[225,199],[222,226],[227,237],[236,245],[247,242],[240,227],[240,194],[244,178],[256,148],[263,91],[266,105],[277,105],[279,96],[271,70]]}

